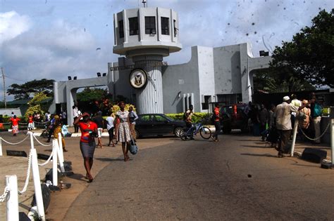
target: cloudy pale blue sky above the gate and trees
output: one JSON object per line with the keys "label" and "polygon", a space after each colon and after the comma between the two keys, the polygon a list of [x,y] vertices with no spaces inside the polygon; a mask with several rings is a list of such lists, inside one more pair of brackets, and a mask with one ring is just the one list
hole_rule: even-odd
{"label": "cloudy pale blue sky above the gate and trees", "polygon": [[[6,88],[33,79],[64,81],[107,72],[113,54],[113,14],[142,0],[0,0],[0,66]],[[272,51],[307,25],[333,0],[147,0],[179,14],[183,50],[165,60],[190,60],[192,46],[252,43],[254,56]],[[97,48],[101,48],[98,49]],[[0,90],[3,90],[2,82]],[[0,93],[0,100],[3,100]],[[7,100],[11,100],[8,97]]]}

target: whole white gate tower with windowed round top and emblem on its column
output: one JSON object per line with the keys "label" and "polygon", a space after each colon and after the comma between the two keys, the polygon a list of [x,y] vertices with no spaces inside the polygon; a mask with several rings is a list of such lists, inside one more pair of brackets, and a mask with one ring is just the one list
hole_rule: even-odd
{"label": "whole white gate tower with windowed round top and emblem on its column", "polygon": [[162,60],[182,48],[178,13],[145,6],[127,9],[114,14],[113,25],[113,53],[135,62],[129,81],[136,91],[137,112],[163,113]]}

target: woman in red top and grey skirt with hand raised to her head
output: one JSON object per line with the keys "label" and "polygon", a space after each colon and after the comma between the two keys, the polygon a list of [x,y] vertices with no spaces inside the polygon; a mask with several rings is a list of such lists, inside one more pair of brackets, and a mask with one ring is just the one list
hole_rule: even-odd
{"label": "woman in red top and grey skirt with hand raised to her head", "polygon": [[[82,121],[80,121],[81,118]],[[80,150],[84,159],[86,178],[88,179],[88,182],[92,182],[93,176],[91,170],[96,146],[94,137],[97,137],[97,124],[90,120],[90,116],[86,112],[78,116],[73,124],[79,126],[81,131]]]}

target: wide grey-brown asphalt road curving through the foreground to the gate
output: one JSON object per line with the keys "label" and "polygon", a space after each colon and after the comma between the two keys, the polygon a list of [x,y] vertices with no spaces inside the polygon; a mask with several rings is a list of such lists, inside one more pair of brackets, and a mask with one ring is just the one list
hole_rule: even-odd
{"label": "wide grey-brown asphalt road curving through the foreground to the gate", "polygon": [[65,220],[333,220],[333,170],[278,159],[249,136],[162,139],[174,140],[104,159]]}

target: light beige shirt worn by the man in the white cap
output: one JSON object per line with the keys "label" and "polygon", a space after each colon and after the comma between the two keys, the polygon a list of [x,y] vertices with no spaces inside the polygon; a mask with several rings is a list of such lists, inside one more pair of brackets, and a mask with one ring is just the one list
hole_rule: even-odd
{"label": "light beige shirt worn by the man in the white cap", "polygon": [[292,130],[291,126],[291,112],[297,112],[298,107],[283,102],[277,105],[275,115],[276,115],[276,127],[278,130]]}

